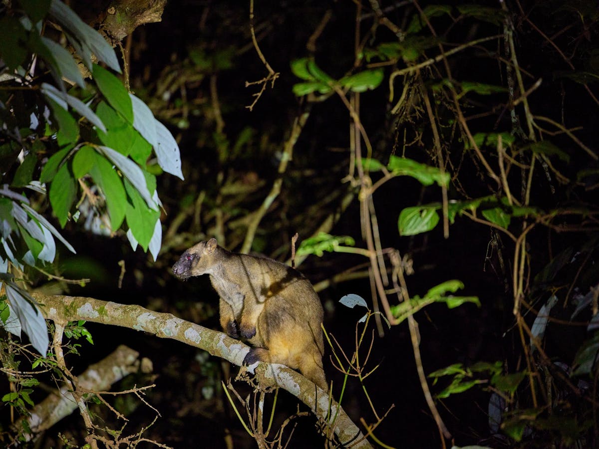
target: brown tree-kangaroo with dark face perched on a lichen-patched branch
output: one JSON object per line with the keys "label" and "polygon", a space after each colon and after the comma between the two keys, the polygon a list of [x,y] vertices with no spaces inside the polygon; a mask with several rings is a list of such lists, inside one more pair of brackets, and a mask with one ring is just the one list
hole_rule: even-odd
{"label": "brown tree-kangaroo with dark face perched on a lichen-patched branch", "polygon": [[220,296],[223,330],[253,346],[244,365],[283,363],[327,390],[322,305],[300,272],[266,257],[230,253],[210,239],[185,251],[173,273],[179,278],[210,275]]}

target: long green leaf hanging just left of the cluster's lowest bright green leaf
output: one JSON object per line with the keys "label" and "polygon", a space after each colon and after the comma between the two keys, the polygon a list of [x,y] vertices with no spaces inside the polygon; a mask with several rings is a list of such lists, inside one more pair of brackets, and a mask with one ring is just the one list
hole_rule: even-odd
{"label": "long green leaf hanging just left of the cluster's lowest bright green leaf", "polygon": [[110,215],[110,226],[113,231],[119,229],[125,220],[127,207],[127,196],[123,181],[114,170],[112,163],[95,152],[95,164],[90,170],[93,180],[104,192],[108,215]]}

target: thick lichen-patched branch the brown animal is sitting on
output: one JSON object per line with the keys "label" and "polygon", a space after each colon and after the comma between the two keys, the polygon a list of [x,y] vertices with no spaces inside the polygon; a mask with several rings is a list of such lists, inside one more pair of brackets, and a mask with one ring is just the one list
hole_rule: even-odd
{"label": "thick lichen-patched branch the brown animal is sitting on", "polygon": [[[171,338],[213,356],[241,366],[249,347],[222,332],[181,320],[170,313],[147,310],[138,305],[123,305],[81,296],[46,296],[34,293],[44,317],[49,320],[86,320],[94,323],[129,327],[150,332],[161,338]],[[367,448],[370,443],[337,402],[332,401],[329,414],[328,394],[302,375],[284,365],[259,363],[256,377],[263,386],[280,387],[294,395],[322,420],[331,422],[337,415],[334,431],[344,447]]]}

